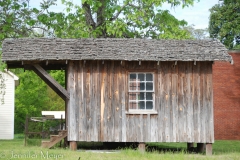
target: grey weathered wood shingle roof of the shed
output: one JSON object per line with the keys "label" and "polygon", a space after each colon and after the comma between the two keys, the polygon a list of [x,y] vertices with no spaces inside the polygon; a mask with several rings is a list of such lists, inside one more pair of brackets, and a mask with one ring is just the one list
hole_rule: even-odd
{"label": "grey weathered wood shingle roof of the shed", "polygon": [[153,39],[6,39],[3,61],[126,60],[232,61],[216,40]]}

